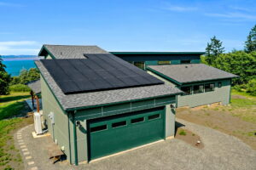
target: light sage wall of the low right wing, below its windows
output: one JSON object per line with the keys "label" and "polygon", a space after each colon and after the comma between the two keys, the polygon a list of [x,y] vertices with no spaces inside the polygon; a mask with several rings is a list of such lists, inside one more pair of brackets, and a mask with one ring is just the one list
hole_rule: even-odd
{"label": "light sage wall of the low right wing, below its windows", "polygon": [[[222,82],[222,87],[218,88],[218,82]],[[202,84],[207,82],[195,83]],[[230,103],[230,79],[219,80],[214,82],[215,88],[212,92],[205,92],[201,94],[189,94],[177,96],[177,106],[195,107],[199,105],[208,105],[216,102],[221,102],[222,105]],[[189,84],[192,85],[192,84]]]}

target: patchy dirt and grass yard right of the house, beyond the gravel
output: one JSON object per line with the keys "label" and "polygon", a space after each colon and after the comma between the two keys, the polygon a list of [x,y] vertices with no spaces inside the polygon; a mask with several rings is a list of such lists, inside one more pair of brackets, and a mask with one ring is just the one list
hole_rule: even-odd
{"label": "patchy dirt and grass yard right of the house, beyond the gravel", "polygon": [[232,90],[230,105],[177,109],[177,117],[236,136],[256,150],[256,97]]}

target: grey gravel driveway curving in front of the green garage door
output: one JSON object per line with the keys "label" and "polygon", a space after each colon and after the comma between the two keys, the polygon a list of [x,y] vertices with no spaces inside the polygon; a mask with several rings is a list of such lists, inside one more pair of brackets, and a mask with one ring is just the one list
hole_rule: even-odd
{"label": "grey gravel driveway curving in front of the green garage door", "polygon": [[[26,169],[256,169],[256,151],[240,139],[180,119],[177,122],[201,136],[205,147],[200,150],[182,140],[171,139],[76,167],[67,161],[51,164],[45,150],[50,137],[32,139],[33,126],[20,129],[15,135],[15,143],[19,149],[22,146],[20,152]],[[27,150],[23,151],[24,148]]]}

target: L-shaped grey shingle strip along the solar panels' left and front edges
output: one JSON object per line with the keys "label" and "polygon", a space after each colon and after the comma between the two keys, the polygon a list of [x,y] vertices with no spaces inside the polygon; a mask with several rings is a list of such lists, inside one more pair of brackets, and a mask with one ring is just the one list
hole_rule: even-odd
{"label": "L-shaped grey shingle strip along the solar panels' left and front edges", "polygon": [[166,84],[160,84],[146,87],[122,88],[67,95],[63,94],[61,88],[56,84],[53,77],[50,76],[49,71],[47,71],[43,63],[39,60],[35,61],[35,63],[64,110],[183,93],[177,88],[172,88]]}

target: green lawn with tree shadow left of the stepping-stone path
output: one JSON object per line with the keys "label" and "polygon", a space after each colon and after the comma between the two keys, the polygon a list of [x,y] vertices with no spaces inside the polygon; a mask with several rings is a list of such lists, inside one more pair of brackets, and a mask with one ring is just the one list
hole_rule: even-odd
{"label": "green lawn with tree shadow left of the stepping-stone path", "polygon": [[19,150],[15,149],[13,133],[32,123],[32,117],[21,117],[29,111],[24,103],[29,96],[28,93],[0,96],[0,169],[24,168]]}

